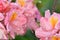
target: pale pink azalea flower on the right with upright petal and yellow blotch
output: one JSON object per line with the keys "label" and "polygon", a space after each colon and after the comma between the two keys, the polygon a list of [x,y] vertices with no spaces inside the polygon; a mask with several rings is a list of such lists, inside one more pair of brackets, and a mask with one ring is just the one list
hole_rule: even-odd
{"label": "pale pink azalea flower on the right with upright petal and yellow blotch", "polygon": [[[60,29],[60,14],[55,12],[50,16],[49,10],[45,12],[45,17],[40,19],[40,28],[35,31],[35,34],[41,40],[49,40],[49,37],[54,36]],[[52,40],[52,39],[51,39]]]}

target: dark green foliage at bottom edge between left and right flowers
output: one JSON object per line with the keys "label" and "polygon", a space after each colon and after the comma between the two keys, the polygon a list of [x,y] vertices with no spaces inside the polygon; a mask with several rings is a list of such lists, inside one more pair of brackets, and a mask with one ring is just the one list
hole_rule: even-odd
{"label": "dark green foliage at bottom edge between left and right flowers", "polygon": [[31,30],[28,30],[24,36],[17,35],[14,40],[38,40]]}

